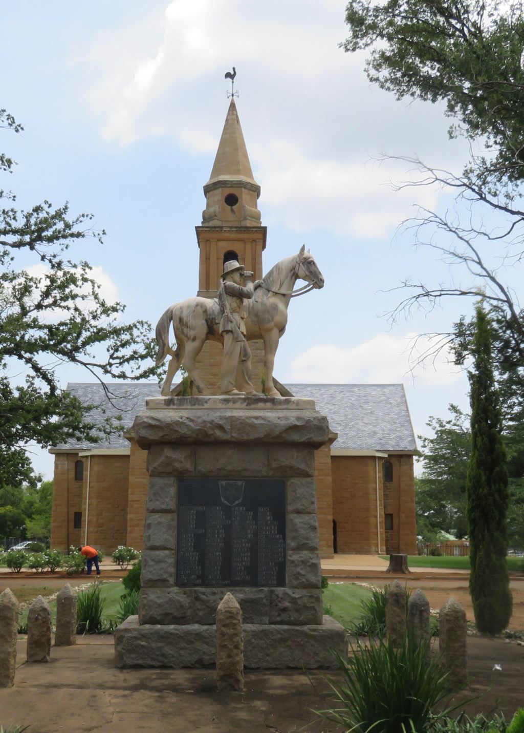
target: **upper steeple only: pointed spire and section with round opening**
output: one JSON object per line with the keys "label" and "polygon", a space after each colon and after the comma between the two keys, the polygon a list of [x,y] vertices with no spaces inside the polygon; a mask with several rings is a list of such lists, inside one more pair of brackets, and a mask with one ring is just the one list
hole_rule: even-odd
{"label": "upper steeple only: pointed spire and section with round opening", "polygon": [[203,187],[207,226],[260,226],[257,199],[261,188],[253,178],[235,100],[231,99],[209,181]]}

